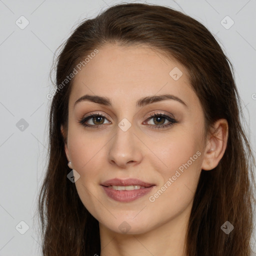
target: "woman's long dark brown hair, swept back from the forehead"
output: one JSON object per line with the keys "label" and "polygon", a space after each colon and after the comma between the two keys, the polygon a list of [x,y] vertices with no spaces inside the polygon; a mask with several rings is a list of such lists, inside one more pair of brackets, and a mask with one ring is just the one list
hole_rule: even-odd
{"label": "woman's long dark brown hair, swept back from the forehead", "polygon": [[[215,120],[227,120],[225,153],[214,169],[200,174],[188,222],[186,253],[251,255],[255,161],[241,125],[233,67],[200,22],[169,7],[144,3],[113,5],[95,18],[83,20],[57,56],[56,91],[49,113],[49,159],[38,200],[43,255],[100,254],[98,221],[82,204],[75,184],[67,179],[66,135],[62,136],[60,125],[67,134],[73,79],[67,81],[66,77],[87,54],[106,43],[146,44],[174,57],[189,72],[204,111],[206,132]],[[234,226],[229,234],[220,228],[227,220]]]}

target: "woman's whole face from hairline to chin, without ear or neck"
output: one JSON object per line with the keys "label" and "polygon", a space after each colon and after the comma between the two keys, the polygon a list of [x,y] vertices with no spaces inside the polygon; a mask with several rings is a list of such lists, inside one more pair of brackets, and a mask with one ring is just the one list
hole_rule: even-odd
{"label": "woman's whole face from hairline to chin, without ear or neck", "polygon": [[191,209],[203,111],[174,59],[142,45],[98,50],[74,77],[66,156],[79,173],[78,195],[100,225],[146,232]]}

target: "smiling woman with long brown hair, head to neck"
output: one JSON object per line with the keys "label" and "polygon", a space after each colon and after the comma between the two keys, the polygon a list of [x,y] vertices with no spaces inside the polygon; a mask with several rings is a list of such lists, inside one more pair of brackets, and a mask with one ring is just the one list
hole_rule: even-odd
{"label": "smiling woman with long brown hair, head to neck", "polygon": [[251,255],[254,159],[229,64],[164,6],[75,29],[49,95],[43,255]]}

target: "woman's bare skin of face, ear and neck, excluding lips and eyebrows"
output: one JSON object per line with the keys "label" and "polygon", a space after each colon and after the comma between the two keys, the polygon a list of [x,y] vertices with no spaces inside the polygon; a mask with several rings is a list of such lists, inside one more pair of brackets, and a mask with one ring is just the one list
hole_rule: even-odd
{"label": "woman's bare skin of face, ear and neck, excluding lips and eyebrows", "polygon": [[[182,71],[174,80],[169,72]],[[107,44],[75,75],[68,104],[65,152],[68,166],[80,177],[78,195],[99,221],[103,255],[185,255],[185,233],[201,169],[214,168],[227,140],[227,122],[215,123],[215,134],[204,139],[203,110],[189,84],[187,70],[174,58],[167,58],[146,45],[123,47]],[[74,102],[84,94],[109,97],[112,106],[90,101]],[[176,100],[162,100],[136,107],[145,96],[172,94]],[[177,120],[165,128],[150,113],[166,114]],[[87,120],[101,127],[84,127],[79,119],[89,113],[106,118]],[[123,131],[118,123],[126,118],[131,126]],[[144,122],[145,121],[145,122]],[[162,124],[161,122],[161,124]],[[151,125],[151,126],[150,126]],[[154,128],[156,127],[156,128]],[[63,127],[61,132],[64,135]],[[187,163],[171,185],[152,202],[153,196]],[[154,183],[153,190],[131,202],[109,198],[100,183],[110,178],[139,178]],[[152,198],[152,197],[151,197]],[[127,232],[118,227],[126,221]]]}

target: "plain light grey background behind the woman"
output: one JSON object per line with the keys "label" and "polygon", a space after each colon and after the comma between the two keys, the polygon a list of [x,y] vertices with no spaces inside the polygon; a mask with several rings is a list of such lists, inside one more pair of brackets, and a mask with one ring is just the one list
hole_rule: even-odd
{"label": "plain light grey background behind the woman", "polygon": [[[79,20],[93,17],[118,2],[121,1],[0,0],[0,256],[41,255],[36,203],[46,166],[50,105],[46,94],[53,91],[49,79],[53,52]],[[235,68],[254,149],[256,0],[147,2],[181,10],[215,34]],[[24,29],[15,23],[21,15],[29,21]],[[221,24],[227,15],[234,21],[229,29]],[[222,22],[229,26],[230,21],[225,18]],[[19,129],[22,126],[16,126],[21,118],[28,123],[23,131]],[[18,224],[19,231],[25,230],[20,221],[29,226],[24,234],[15,228]]]}

